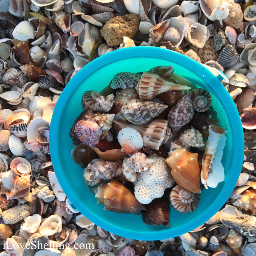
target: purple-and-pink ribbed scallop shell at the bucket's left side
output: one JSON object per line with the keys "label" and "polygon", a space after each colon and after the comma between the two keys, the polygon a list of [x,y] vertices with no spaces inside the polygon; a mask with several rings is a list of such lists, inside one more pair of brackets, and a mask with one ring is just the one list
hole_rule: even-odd
{"label": "purple-and-pink ribbed scallop shell at the bucket's left side", "polygon": [[102,134],[100,126],[92,119],[77,122],[75,132],[78,139],[87,145],[98,144]]}

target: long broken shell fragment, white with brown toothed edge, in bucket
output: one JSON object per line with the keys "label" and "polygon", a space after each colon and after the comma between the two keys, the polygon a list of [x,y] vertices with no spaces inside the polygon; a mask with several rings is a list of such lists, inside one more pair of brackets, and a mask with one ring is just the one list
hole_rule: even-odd
{"label": "long broken shell fragment, white with brown toothed edge, in bucket", "polygon": [[[202,160],[201,182],[205,188],[216,187],[224,180],[224,167],[221,164],[223,149],[226,144],[226,130],[210,125],[209,137]],[[211,170],[211,172],[210,172]]]}

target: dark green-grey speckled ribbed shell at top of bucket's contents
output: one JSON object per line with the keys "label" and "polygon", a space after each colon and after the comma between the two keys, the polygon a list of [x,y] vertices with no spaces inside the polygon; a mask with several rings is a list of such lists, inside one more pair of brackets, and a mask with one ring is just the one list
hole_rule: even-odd
{"label": "dark green-grey speckled ribbed shell at top of bucket's contents", "polygon": [[113,89],[124,89],[135,87],[140,80],[141,76],[130,72],[121,72],[114,75],[110,87]]}

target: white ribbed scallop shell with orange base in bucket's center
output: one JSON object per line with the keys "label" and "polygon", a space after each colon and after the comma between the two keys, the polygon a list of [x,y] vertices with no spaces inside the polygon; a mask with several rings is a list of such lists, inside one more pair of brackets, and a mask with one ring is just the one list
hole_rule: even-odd
{"label": "white ribbed scallop shell with orange base in bucket's center", "polygon": [[123,128],[118,133],[117,139],[122,146],[123,151],[127,154],[132,154],[143,146],[143,140],[140,133],[130,127]]}

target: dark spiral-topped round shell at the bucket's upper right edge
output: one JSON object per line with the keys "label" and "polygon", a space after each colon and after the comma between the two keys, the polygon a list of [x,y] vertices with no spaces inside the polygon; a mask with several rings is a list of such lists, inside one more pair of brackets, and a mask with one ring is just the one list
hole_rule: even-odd
{"label": "dark spiral-topped round shell at the bucket's upper right edge", "polygon": [[197,88],[191,91],[193,107],[198,112],[205,112],[211,106],[211,95],[204,89]]}

